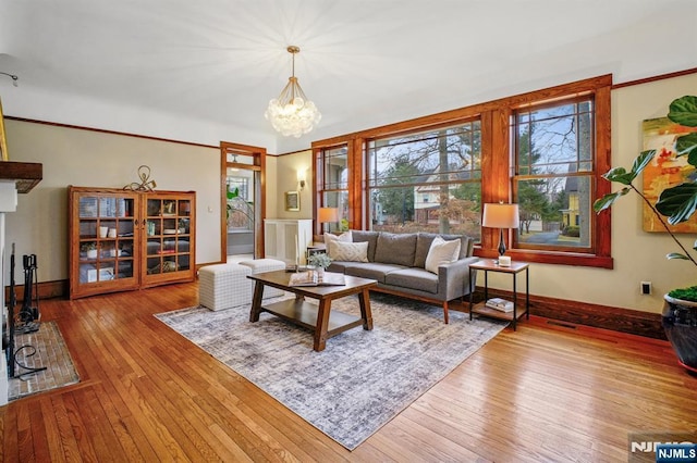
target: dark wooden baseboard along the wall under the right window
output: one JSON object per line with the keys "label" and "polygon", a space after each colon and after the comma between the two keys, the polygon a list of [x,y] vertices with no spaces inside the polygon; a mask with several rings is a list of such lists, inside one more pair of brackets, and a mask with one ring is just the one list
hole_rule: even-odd
{"label": "dark wooden baseboard along the wall under the right window", "polygon": [[[489,297],[511,299],[512,292],[489,289]],[[482,300],[484,290],[478,288],[475,298]],[[647,338],[667,339],[659,313],[530,295],[530,314],[565,324],[592,326]]]}

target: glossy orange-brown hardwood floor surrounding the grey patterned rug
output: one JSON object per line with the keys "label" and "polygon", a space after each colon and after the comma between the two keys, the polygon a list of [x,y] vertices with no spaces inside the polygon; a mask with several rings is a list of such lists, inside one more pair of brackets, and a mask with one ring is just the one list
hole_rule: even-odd
{"label": "glossy orange-brown hardwood floor surrounding the grey patterned rug", "polygon": [[531,317],[348,452],[152,316],[196,303],[196,284],[40,301],[81,383],[0,408],[2,461],[620,462],[628,433],[697,429],[667,342]]}

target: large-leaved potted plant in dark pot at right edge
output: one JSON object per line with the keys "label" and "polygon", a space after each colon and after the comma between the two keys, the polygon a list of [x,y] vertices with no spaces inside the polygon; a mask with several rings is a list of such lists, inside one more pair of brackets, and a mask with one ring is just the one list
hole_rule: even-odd
{"label": "large-leaved potted plant in dark pot at right edge", "polygon": [[[673,100],[668,118],[685,127],[697,127],[697,97],[685,96]],[[676,157],[687,157],[687,163],[697,168],[697,132],[677,137],[675,140]],[[634,179],[644,171],[656,155],[656,150],[641,152],[632,165],[631,171],[613,167],[603,178],[624,185],[622,189],[606,195],[594,203],[597,213],[610,208],[617,199],[629,191],[636,192],[653,211],[665,232],[673,238],[681,252],[671,252],[668,259],[686,260],[697,266],[697,261],[681,243],[668,224],[676,225],[688,221],[697,210],[697,175],[694,173],[680,185],[665,188],[659,196],[656,207],[634,185]],[[663,217],[668,217],[668,224]],[[697,241],[693,245],[697,250]],[[663,297],[665,303],[662,324],[665,336],[673,346],[683,366],[697,374],[697,285],[689,288],[676,288]]]}

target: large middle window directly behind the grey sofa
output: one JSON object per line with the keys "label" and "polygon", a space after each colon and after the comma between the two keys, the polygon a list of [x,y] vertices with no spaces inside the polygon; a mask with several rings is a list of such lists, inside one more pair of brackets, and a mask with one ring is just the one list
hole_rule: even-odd
{"label": "large middle window directly behind the grey sofa", "polygon": [[369,228],[479,237],[479,121],[368,140]]}

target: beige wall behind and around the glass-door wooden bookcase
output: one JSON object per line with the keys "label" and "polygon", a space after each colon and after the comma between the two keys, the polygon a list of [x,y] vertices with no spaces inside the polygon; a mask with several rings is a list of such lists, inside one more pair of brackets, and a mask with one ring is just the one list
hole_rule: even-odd
{"label": "beige wall behind and around the glass-door wooden bookcase", "polygon": [[[122,188],[150,166],[158,190],[196,191],[196,262],[220,259],[220,150],[138,137],[5,120],[10,161],[44,164],[44,179],[19,195],[7,216],[7,242],[37,255],[39,281],[68,279],[69,185]],[[8,256],[11,249],[8,250]]]}

